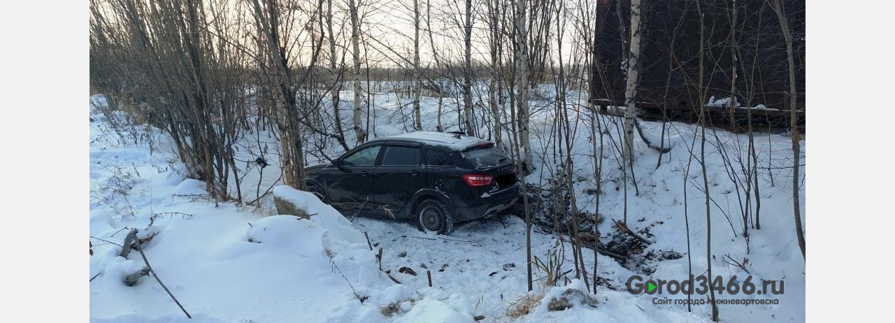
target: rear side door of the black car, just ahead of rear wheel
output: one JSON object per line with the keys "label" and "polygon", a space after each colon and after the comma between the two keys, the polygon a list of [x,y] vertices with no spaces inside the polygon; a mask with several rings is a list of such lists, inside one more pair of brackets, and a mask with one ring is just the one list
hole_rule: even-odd
{"label": "rear side door of the black car, just ahead of rear wheel", "polygon": [[410,199],[426,185],[425,167],[419,146],[388,144],[383,148],[379,167],[375,170],[373,200],[383,216],[396,217],[410,208]]}

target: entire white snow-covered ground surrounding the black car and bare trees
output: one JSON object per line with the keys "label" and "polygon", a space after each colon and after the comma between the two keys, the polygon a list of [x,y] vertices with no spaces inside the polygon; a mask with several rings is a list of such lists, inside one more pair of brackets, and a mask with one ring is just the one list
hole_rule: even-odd
{"label": "entire white snow-covered ground surrounding the black car and bare trees", "polygon": [[[544,92],[549,94],[550,90]],[[345,91],[342,97],[349,99],[351,93]],[[371,137],[409,130],[410,99],[388,93],[376,95],[371,101],[376,106],[372,117],[376,126],[371,129]],[[437,101],[422,100],[423,127],[427,130],[435,129]],[[532,106],[533,149],[539,154],[534,158],[538,167],[527,182],[544,186],[557,170],[550,155],[555,116],[552,109],[546,108],[552,103],[532,101]],[[449,131],[458,130],[457,107],[456,100],[444,100],[442,123]],[[349,115],[347,110],[343,115]],[[575,114],[570,117],[573,123],[578,119]],[[618,138],[618,120],[603,118],[609,125],[608,132]],[[593,212],[596,205],[592,191],[596,187],[589,122],[588,113],[583,112],[574,133],[572,157],[578,208]],[[661,123],[643,126],[648,136],[659,138]],[[568,310],[550,311],[547,300],[570,287],[584,290],[584,282],[572,280],[567,286],[545,287],[546,274],[535,270],[535,290],[526,293],[525,225],[520,217],[507,215],[473,221],[457,225],[452,235],[439,236],[422,234],[415,225],[405,222],[366,217],[349,222],[334,209],[301,192],[295,192],[296,199],[308,206],[310,214],[316,214],[310,220],[276,216],[269,200],[263,208],[215,203],[203,198],[204,183],[184,178],[183,165],[157,130],[149,130],[152,140],[148,142],[122,144],[108,123],[97,118],[90,123],[90,236],[95,251],[90,258],[90,274],[98,274],[90,282],[90,317],[96,321],[186,319],[153,277],[143,277],[134,286],[122,283],[124,276],[143,266],[143,260],[137,251],[127,259],[117,257],[121,248],[108,242],[122,243],[128,229],[137,228],[139,237],[157,234],[144,245],[152,268],[185,310],[201,321],[471,322],[475,316],[483,316],[489,322],[705,321],[711,314],[708,305],[696,305],[693,312],[687,312],[686,305],[655,304],[653,295],[625,291],[627,278],[635,274],[644,279],[686,279],[687,256],[692,258],[694,275],[703,275],[706,270],[703,178],[695,161],[686,182],[689,255],[684,218],[684,180],[694,139],[697,141],[693,153],[699,156],[697,130],[694,125],[669,123],[664,141],[670,144],[671,151],[661,157],[658,168],[658,152],[635,140],[639,194],[635,196],[629,187],[626,205],[627,224],[635,231],[649,228],[652,244],[644,252],[677,251],[684,257],[651,261],[649,267],[655,271],[644,273],[600,256],[598,273],[605,283],[595,295],[599,305],[592,308],[576,304]],[[767,169],[759,178],[762,229],[750,230],[747,250],[740,229],[737,190],[722,161],[722,156],[736,159],[733,151],[745,151],[746,135],[711,130],[706,134],[706,168],[712,196],[712,275],[723,277],[725,282],[730,276],[737,276],[742,282],[751,274],[754,282],[782,279],[786,285],[784,294],[773,297],[718,294],[720,299],[780,299],[777,305],[720,305],[720,318],[732,322],[804,321],[805,266],[794,234],[792,194],[787,185],[791,172],[785,168],[791,165],[789,138],[756,134],[759,164]],[[618,149],[605,137],[600,214],[607,220],[599,226],[604,243],[615,232],[609,219],[621,220],[625,208],[624,191],[617,180],[621,178]],[[265,145],[276,151],[271,146],[275,143],[268,133],[254,132],[237,145],[237,153],[240,159],[253,160]],[[804,143],[803,140],[802,164]],[[326,145],[326,152],[336,156],[340,151],[337,146]],[[263,174],[246,168],[246,174],[251,175],[243,182],[244,200],[252,200],[256,190],[263,193],[276,186],[277,160],[268,157],[268,162],[272,167],[265,168]],[[804,178],[804,173],[801,176]],[[804,196],[804,189],[800,194]],[[804,205],[802,209],[805,221]],[[369,235],[374,245],[372,251],[362,233]],[[565,251],[564,268],[573,267],[571,245],[558,244],[556,235],[536,229],[532,244],[533,255],[539,259],[548,259],[554,251]],[[379,247],[383,250],[382,270],[375,256]],[[723,261],[726,255],[739,262],[748,259],[745,267],[749,273]],[[592,270],[593,260],[592,251],[585,250],[588,270]],[[416,275],[401,272],[405,267],[413,269]],[[384,270],[390,270],[402,284],[392,281]],[[432,287],[427,270],[431,272]],[[527,315],[512,316],[526,295],[544,301],[534,305]],[[686,299],[686,295],[669,298]]]}

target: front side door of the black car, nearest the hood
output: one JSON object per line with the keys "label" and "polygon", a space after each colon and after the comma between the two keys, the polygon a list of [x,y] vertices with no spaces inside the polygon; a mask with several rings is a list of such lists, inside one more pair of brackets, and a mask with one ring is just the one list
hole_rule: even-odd
{"label": "front side door of the black car, nearest the hood", "polygon": [[354,214],[372,208],[373,170],[382,148],[364,147],[339,159],[337,170],[328,175],[329,199],[335,206]]}

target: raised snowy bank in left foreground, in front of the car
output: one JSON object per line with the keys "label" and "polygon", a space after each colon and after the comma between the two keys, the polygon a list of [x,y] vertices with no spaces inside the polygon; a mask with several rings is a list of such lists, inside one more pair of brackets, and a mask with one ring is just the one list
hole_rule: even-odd
{"label": "raised snowy bank in left foreground, in front of the car", "polygon": [[311,219],[216,205],[204,200],[204,183],[183,178],[174,156],[111,144],[105,127],[90,125],[92,319],[185,319],[151,276],[124,285],[144,266],[137,251],[118,256],[129,228],[156,234],[143,244],[150,265],[200,321],[375,320],[375,303],[394,301],[394,283],[363,235],[310,193],[295,191],[294,199]]}

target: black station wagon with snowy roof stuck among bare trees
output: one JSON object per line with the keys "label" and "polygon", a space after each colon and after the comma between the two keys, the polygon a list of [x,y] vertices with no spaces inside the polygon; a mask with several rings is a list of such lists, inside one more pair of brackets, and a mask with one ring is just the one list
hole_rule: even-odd
{"label": "black station wagon with snowy roof stuck among bare trees", "polygon": [[308,190],[334,207],[413,219],[438,234],[450,234],[456,221],[509,208],[521,196],[511,157],[490,141],[453,132],[371,140],[306,174]]}

